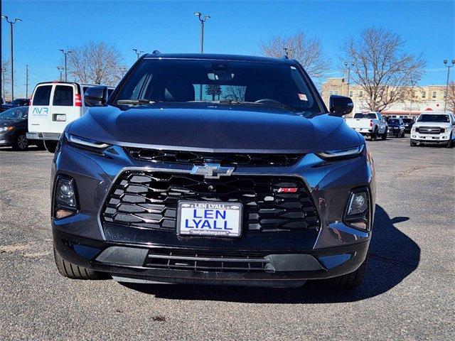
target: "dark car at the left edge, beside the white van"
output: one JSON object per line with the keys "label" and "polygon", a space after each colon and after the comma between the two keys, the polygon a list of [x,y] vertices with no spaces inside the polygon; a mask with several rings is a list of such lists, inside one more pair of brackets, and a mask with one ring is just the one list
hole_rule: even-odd
{"label": "dark car at the left edge, beside the white van", "polygon": [[0,146],[12,146],[24,151],[29,144],[41,147],[40,141],[27,139],[28,107],[14,107],[0,114]]}

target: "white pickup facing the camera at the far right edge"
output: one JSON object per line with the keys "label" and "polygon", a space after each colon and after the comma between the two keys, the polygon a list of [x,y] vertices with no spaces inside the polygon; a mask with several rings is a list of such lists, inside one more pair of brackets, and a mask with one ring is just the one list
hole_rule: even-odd
{"label": "white pickup facing the camera at the far right edge", "polygon": [[422,113],[412,126],[411,146],[444,144],[454,146],[455,117],[448,112]]}

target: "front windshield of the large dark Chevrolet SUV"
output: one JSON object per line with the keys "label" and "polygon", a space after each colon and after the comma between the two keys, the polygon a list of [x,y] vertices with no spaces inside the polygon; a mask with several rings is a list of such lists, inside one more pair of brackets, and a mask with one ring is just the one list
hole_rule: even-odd
{"label": "front windshield of the large dark Chevrolet SUV", "polygon": [[232,60],[144,59],[112,104],[200,101],[323,111],[296,67]]}

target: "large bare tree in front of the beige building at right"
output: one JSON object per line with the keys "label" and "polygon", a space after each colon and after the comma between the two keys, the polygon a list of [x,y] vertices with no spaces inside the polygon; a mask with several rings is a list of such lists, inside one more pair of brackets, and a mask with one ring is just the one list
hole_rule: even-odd
{"label": "large bare tree in front of the beige building at right", "polygon": [[347,60],[353,60],[353,82],[365,91],[365,106],[382,111],[410,99],[412,89],[424,74],[422,55],[402,51],[404,40],[382,28],[367,28],[360,38],[343,44]]}

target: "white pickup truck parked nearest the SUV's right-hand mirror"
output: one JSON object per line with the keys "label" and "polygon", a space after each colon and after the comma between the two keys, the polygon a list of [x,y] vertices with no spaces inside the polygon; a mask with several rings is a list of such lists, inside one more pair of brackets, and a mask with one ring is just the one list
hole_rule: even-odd
{"label": "white pickup truck parked nearest the SUV's right-hand mirror", "polygon": [[382,140],[387,139],[387,122],[380,112],[358,112],[352,119],[346,119],[346,123],[360,134],[369,136],[371,141],[376,141],[378,136],[381,136]]}

